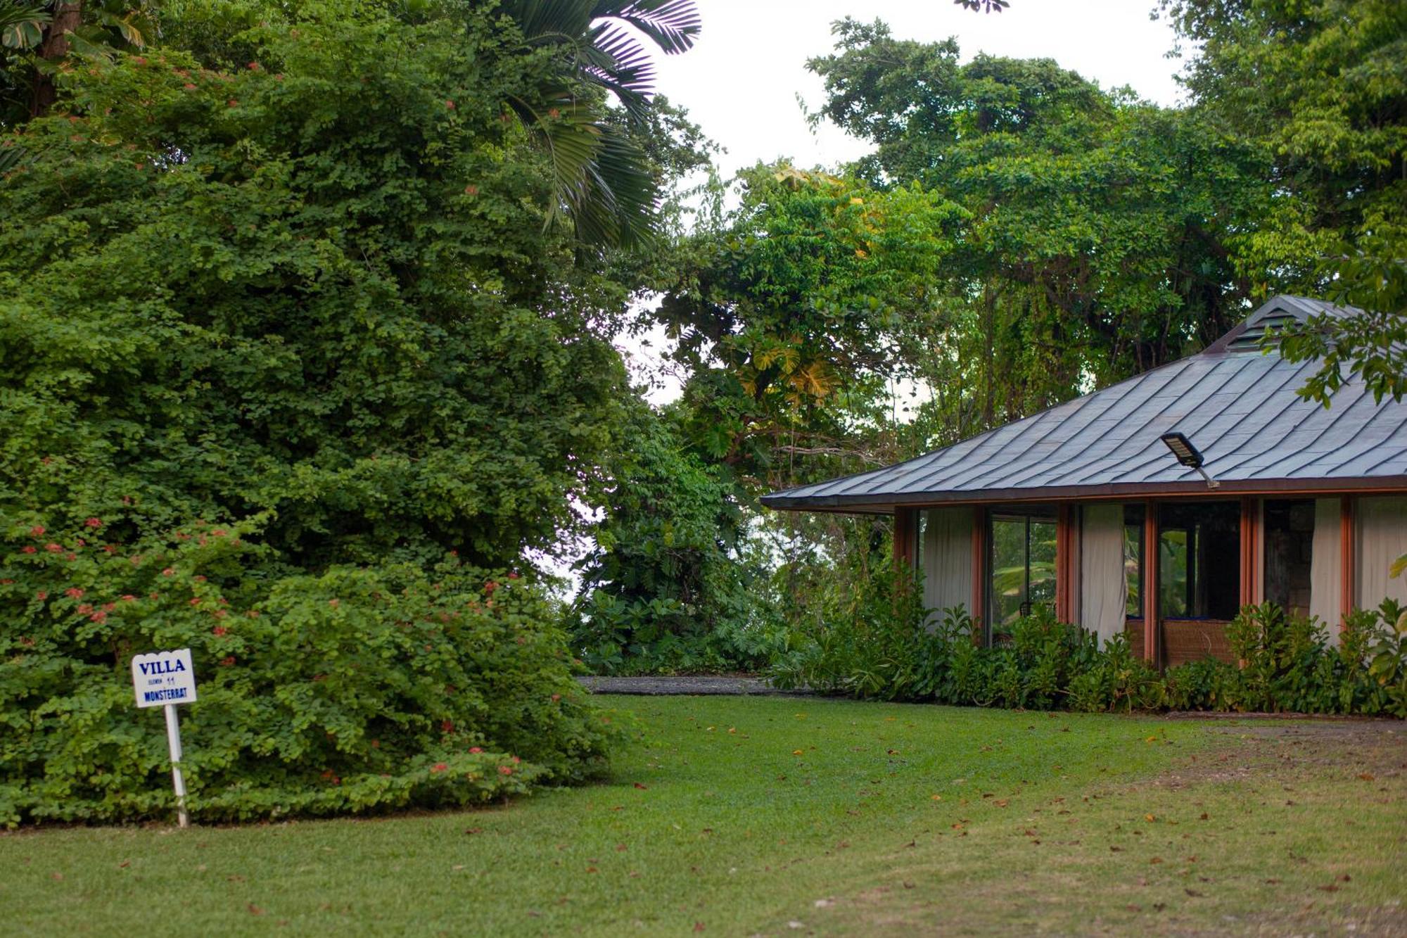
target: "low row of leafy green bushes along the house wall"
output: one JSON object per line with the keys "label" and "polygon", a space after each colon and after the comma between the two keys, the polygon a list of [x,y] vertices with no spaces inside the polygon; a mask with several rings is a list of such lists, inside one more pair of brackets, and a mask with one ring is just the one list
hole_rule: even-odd
{"label": "low row of leafy green bushes along the house wall", "polygon": [[[1103,648],[1078,625],[1037,611],[1010,639],[982,646],[961,608],[933,614],[905,572],[871,577],[832,604],[772,680],[881,700],[1031,710],[1227,710],[1407,717],[1407,635],[1387,601],[1356,611],[1341,642],[1273,603],[1248,606],[1227,630],[1240,665],[1200,661],[1158,672],[1117,635]],[[924,625],[926,623],[926,625]]]}

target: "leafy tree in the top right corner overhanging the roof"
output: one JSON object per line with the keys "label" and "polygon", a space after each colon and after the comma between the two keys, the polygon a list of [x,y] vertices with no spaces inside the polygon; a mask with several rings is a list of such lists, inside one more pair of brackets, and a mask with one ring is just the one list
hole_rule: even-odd
{"label": "leafy tree in the top right corner overhanging the roof", "polygon": [[1407,393],[1407,4],[1396,0],[1162,0],[1196,44],[1183,80],[1217,130],[1258,148],[1275,204],[1234,239],[1262,284],[1361,307],[1290,330],[1303,389],[1328,403],[1341,366],[1373,394]]}

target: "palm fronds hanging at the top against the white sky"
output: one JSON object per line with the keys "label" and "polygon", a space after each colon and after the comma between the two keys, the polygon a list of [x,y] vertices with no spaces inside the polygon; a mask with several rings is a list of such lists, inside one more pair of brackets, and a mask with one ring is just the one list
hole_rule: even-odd
{"label": "palm fronds hanging at the top against the white sky", "polygon": [[[592,245],[647,241],[658,186],[629,138],[650,115],[654,82],[640,35],[670,55],[689,49],[699,34],[694,0],[507,0],[501,8],[529,45],[554,49],[561,63],[535,100],[509,101],[552,156],[549,224],[570,218]],[[620,104],[625,127],[606,97]]]}

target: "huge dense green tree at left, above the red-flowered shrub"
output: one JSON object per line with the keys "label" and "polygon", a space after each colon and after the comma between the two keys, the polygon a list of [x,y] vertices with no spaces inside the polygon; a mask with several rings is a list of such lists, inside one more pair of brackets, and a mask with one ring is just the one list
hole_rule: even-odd
{"label": "huge dense green tree at left, above the red-flowered shrub", "polygon": [[602,496],[623,290],[543,230],[499,107],[536,65],[481,17],[319,10],[238,73],[76,72],[21,135],[0,497],[139,531],[272,510],[294,566],[552,549]]}

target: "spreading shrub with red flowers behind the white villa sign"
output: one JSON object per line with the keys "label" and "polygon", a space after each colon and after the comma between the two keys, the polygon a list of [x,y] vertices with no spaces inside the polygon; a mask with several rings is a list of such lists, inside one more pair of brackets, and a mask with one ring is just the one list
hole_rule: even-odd
{"label": "spreading shrub with red flowers behind the white villa sign", "polygon": [[450,558],[279,575],[255,523],[117,544],[90,520],[0,541],[0,824],[172,808],[165,723],[132,655],[191,649],[180,707],[200,820],[463,806],[570,782],[613,732],[554,610]]}

